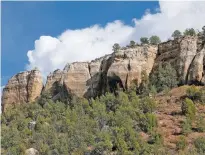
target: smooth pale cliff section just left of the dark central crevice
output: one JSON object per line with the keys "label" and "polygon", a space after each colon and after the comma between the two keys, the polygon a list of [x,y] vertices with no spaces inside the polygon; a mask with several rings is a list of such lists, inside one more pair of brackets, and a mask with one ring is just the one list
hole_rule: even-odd
{"label": "smooth pale cliff section just left of the dark central crevice", "polygon": [[[63,86],[67,93],[78,97],[94,97],[101,94],[102,74],[106,69],[107,57],[101,57],[91,62],[74,62],[67,64],[63,71],[57,70],[47,77],[45,92],[55,96],[55,90]],[[103,64],[103,65],[102,65]]]}

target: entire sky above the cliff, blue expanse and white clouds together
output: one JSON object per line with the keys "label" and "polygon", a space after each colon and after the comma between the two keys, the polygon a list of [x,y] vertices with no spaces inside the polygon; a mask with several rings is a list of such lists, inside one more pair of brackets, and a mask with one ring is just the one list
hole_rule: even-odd
{"label": "entire sky above the cliff, blue expanse and white clouds together", "polygon": [[166,41],[176,29],[201,29],[205,2],[2,2],[1,88],[38,67],[44,78],[75,61],[112,53],[140,37]]}

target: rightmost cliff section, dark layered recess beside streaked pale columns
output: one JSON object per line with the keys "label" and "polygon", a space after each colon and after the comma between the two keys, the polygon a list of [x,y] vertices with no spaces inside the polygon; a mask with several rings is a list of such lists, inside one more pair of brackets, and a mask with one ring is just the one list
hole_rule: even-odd
{"label": "rightmost cliff section, dark layered recess beside streaked pale columns", "polygon": [[169,62],[182,84],[202,83],[204,55],[204,42],[197,36],[185,36],[160,44],[155,66]]}

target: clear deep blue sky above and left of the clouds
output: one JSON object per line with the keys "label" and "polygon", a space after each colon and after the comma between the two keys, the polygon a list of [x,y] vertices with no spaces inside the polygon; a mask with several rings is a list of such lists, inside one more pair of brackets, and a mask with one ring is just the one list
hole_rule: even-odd
{"label": "clear deep blue sky above and left of the clouds", "polygon": [[157,7],[158,2],[2,2],[2,85],[25,70],[27,52],[40,36],[114,20],[131,25],[133,18]]}

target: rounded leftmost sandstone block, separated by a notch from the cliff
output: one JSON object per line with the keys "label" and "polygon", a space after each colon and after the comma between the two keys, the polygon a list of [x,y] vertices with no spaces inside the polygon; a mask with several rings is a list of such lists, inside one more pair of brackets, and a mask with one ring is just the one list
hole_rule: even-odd
{"label": "rounded leftmost sandstone block, separated by a notch from the cliff", "polygon": [[3,109],[13,103],[34,101],[41,94],[42,88],[43,79],[40,71],[31,70],[16,74],[3,89]]}

